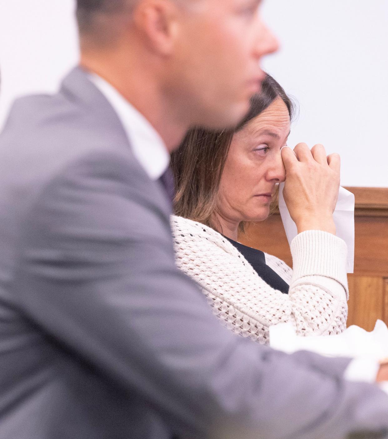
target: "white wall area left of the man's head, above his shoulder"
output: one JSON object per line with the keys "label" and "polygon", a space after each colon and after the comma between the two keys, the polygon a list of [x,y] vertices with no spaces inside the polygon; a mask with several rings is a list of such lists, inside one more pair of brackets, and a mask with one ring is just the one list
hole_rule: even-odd
{"label": "white wall area left of the man's head, above his shoulder", "polygon": [[78,60],[74,0],[0,0],[0,126],[15,97],[54,92]]}

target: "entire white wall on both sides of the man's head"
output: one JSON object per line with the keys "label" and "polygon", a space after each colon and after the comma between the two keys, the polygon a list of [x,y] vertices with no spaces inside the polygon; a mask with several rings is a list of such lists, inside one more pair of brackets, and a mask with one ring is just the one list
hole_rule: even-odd
{"label": "entire white wall on both sides of the man's head", "polygon": [[[0,0],[0,126],[16,96],[53,92],[76,64],[73,9]],[[339,152],[342,185],[388,187],[388,0],[265,0],[263,13],[282,46],[264,67],[300,107],[289,144]]]}

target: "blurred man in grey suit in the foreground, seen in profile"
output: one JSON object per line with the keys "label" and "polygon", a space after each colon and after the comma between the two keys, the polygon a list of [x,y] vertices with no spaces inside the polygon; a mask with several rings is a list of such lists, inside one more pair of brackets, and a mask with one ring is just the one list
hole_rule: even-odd
{"label": "blurred man in grey suit in the foreground, seen in profile", "polygon": [[349,360],[233,335],[174,265],[168,151],[247,111],[277,47],[258,3],[79,0],[81,68],[12,108],[1,439],[388,437],[387,395],[345,381]]}

